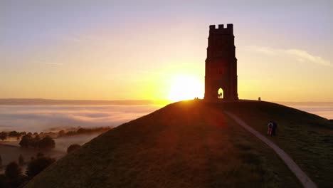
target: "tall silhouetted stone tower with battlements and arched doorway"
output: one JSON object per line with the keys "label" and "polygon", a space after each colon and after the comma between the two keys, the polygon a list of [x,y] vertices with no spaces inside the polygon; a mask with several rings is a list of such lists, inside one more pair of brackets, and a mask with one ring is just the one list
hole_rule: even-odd
{"label": "tall silhouetted stone tower with battlements and arched doorway", "polygon": [[235,48],[233,24],[227,24],[226,28],[223,24],[218,25],[218,28],[215,25],[209,26],[205,100],[238,100]]}

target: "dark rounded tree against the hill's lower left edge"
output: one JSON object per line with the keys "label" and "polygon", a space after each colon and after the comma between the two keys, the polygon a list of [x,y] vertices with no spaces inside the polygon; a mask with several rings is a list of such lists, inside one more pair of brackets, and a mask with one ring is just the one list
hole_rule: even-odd
{"label": "dark rounded tree against the hill's lower left edge", "polygon": [[32,160],[26,169],[26,175],[28,179],[32,179],[39,172],[42,172],[43,169],[50,166],[56,160],[51,157],[37,157],[36,160]]}

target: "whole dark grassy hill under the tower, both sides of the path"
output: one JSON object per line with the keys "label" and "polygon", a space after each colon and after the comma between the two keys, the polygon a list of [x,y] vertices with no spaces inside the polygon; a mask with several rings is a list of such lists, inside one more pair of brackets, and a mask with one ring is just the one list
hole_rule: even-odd
{"label": "whole dark grassy hill under the tower, both sides of the path", "polygon": [[[332,124],[317,115],[255,101],[167,105],[85,144],[26,187],[301,187],[273,150],[223,112],[271,137],[319,187],[332,182]],[[329,166],[330,165],[330,166]]]}

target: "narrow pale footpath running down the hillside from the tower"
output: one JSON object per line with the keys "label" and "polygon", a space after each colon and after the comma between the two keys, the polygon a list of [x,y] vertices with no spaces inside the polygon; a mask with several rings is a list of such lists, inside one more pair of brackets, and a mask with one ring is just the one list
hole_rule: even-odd
{"label": "narrow pale footpath running down the hillside from the tower", "polygon": [[280,147],[275,145],[274,142],[268,140],[267,137],[264,137],[263,135],[261,135],[260,132],[254,130],[252,127],[250,127],[245,122],[243,122],[243,120],[241,120],[239,117],[237,117],[236,115],[233,115],[233,113],[229,113],[229,112],[225,112],[225,113],[229,117],[231,117],[233,120],[235,120],[240,126],[245,128],[245,130],[248,130],[248,132],[251,132],[253,135],[255,135],[260,140],[265,142],[266,145],[271,147],[277,153],[277,155],[279,155],[280,158],[285,162],[285,164],[287,164],[287,167],[289,167],[289,169],[296,175],[297,179],[300,180],[303,187],[309,187],[309,188],[317,187],[317,185],[314,184],[314,182],[312,182],[312,180],[309,177],[307,177],[307,174],[305,174],[305,172],[303,172],[302,169],[300,169],[300,167],[298,167],[298,165],[292,160],[292,158],[289,155],[287,155],[287,153],[285,151],[283,151]]}

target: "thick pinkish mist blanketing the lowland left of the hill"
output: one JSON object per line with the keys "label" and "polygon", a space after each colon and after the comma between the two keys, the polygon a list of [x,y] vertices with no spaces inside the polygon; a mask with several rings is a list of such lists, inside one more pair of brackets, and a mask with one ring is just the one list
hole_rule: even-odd
{"label": "thick pinkish mist blanketing the lowland left of the hill", "polygon": [[47,132],[68,127],[115,127],[161,105],[0,105],[0,130]]}

